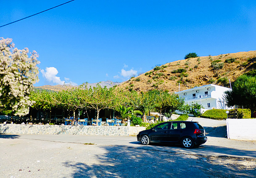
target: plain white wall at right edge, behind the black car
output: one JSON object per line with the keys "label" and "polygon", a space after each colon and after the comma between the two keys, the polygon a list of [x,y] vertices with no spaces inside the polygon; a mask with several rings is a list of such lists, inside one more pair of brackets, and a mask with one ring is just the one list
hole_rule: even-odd
{"label": "plain white wall at right edge, behind the black car", "polygon": [[226,119],[229,139],[256,140],[256,119]]}

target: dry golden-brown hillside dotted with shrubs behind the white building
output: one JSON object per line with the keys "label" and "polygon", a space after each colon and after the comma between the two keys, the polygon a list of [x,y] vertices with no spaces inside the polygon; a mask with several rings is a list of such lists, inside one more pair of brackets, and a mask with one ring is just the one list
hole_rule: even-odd
{"label": "dry golden-brown hillside dotted with shrubs behind the white building", "polygon": [[156,67],[119,87],[138,92],[152,89],[175,92],[179,90],[178,83],[180,91],[210,83],[228,87],[229,79],[233,82],[243,73],[256,69],[255,63],[256,51],[200,56]]}

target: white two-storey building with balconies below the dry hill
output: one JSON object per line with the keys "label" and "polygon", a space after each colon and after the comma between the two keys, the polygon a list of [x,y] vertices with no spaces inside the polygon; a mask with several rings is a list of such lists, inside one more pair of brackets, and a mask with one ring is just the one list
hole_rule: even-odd
{"label": "white two-storey building with balconies below the dry hill", "polygon": [[227,90],[231,89],[209,84],[175,92],[175,94],[184,98],[185,104],[191,105],[192,102],[201,104],[204,107],[204,109],[201,109],[201,113],[203,113],[205,110],[209,109],[232,109],[227,107],[223,100],[224,91]]}

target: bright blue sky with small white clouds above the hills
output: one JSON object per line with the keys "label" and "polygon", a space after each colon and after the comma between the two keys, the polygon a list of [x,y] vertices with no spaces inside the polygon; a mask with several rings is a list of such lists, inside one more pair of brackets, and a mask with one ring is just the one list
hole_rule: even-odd
{"label": "bright blue sky with small white clouds above the hills", "polygon": [[[68,0],[2,1],[0,26]],[[0,28],[39,53],[39,83],[125,81],[165,64],[256,50],[255,1],[75,0]]]}

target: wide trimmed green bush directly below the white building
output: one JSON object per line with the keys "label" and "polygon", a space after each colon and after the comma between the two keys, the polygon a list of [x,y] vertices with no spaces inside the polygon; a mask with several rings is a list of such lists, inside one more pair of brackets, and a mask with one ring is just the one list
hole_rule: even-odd
{"label": "wide trimmed green bush directly below the white building", "polygon": [[222,120],[226,119],[228,115],[226,114],[225,109],[211,109],[206,110],[202,115],[201,118],[209,118],[209,119],[216,119],[216,120]]}

